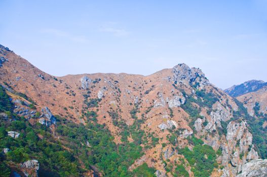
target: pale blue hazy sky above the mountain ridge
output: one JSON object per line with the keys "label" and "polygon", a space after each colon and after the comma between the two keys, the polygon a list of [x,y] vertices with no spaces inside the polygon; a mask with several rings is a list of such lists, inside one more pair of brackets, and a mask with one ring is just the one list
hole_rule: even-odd
{"label": "pale blue hazy sky above the mountain ridge", "polygon": [[55,76],[185,63],[221,89],[267,81],[267,0],[0,0],[0,12],[0,44]]}

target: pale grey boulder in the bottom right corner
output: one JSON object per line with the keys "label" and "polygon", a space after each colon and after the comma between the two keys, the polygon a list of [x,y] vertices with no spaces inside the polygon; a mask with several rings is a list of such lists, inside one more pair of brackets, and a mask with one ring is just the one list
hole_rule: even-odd
{"label": "pale grey boulder in the bottom right corner", "polygon": [[265,177],[267,176],[267,159],[252,160],[242,166],[242,173],[237,177]]}

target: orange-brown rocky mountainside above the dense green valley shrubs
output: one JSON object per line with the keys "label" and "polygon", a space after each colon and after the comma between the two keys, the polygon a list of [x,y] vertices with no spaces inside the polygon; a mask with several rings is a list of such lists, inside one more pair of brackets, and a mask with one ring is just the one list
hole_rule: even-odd
{"label": "orange-brown rocky mountainside above the dense green valley shrubs", "polygon": [[[38,122],[49,127],[59,140],[55,115],[86,125],[97,114],[97,123],[107,127],[117,145],[132,142],[140,146],[143,154],[128,166],[129,171],[146,163],[157,170],[157,176],[177,176],[181,169],[189,176],[201,176],[199,171],[236,176],[247,162],[258,159],[248,124],[242,114],[236,114],[239,106],[198,68],[178,64],[149,76],[55,77],[3,46],[0,57],[0,83],[12,98],[16,114],[32,125]],[[88,142],[83,146],[93,148]],[[202,154],[199,148],[204,146],[211,147],[214,155]],[[188,153],[181,153],[187,148]],[[190,153],[207,159],[212,167],[206,169]],[[101,169],[90,165],[88,171]]]}

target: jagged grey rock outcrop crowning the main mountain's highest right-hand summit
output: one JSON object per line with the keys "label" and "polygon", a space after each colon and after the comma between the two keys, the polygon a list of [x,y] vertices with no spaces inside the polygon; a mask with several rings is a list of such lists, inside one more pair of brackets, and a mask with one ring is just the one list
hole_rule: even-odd
{"label": "jagged grey rock outcrop crowning the main mountain's highest right-hand summit", "polygon": [[185,64],[178,64],[172,69],[173,81],[183,84],[197,84],[197,87],[210,85],[209,80],[205,74],[198,68],[189,68]]}

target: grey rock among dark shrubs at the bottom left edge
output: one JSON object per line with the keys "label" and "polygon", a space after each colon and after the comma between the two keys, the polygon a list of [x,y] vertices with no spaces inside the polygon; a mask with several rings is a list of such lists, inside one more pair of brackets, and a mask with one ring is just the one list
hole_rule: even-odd
{"label": "grey rock among dark shrubs at the bottom left edge", "polygon": [[38,176],[39,162],[38,160],[28,160],[21,163],[21,168],[25,176]]}

